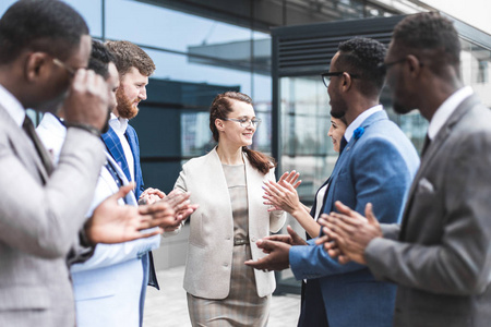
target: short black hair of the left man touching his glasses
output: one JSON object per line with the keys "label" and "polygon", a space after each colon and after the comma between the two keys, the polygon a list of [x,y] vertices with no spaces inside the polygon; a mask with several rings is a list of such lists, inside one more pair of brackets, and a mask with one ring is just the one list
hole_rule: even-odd
{"label": "short black hair of the left man touching his glasses", "polygon": [[58,0],[20,0],[0,19],[0,63],[28,49],[67,60],[88,35],[84,19]]}

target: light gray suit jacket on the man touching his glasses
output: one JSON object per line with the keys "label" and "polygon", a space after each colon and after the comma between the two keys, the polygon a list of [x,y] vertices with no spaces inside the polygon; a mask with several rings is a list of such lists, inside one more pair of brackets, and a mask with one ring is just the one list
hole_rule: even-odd
{"label": "light gray suit jacket on the man touching his glasses", "polygon": [[28,136],[0,106],[0,326],[75,325],[67,258],[92,253],[79,230],[104,161],[100,140],[70,129],[48,177]]}

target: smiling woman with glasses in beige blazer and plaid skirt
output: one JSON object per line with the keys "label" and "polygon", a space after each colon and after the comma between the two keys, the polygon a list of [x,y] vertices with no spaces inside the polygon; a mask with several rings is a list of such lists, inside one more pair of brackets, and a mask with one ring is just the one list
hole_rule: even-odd
{"label": "smiling woman with glasses in beige blazer and plaid skirt", "polygon": [[272,159],[248,148],[260,122],[249,96],[218,95],[209,112],[218,145],[188,161],[176,182],[200,206],[190,218],[184,274],[193,326],[267,324],[274,274],[243,263],[265,255],[254,242],[279,231],[286,217],[263,204],[263,182],[275,175]]}

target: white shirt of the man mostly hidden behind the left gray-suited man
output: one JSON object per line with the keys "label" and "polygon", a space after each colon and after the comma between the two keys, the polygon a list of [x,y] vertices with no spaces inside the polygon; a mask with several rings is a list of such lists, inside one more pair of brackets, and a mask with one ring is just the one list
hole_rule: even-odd
{"label": "white shirt of the man mostly hidden behind the left gray-suited man", "polygon": [[[64,137],[60,135],[65,133],[65,128],[56,117],[45,114],[38,129],[46,130],[46,133],[39,133],[39,137],[58,157],[59,153],[55,153],[55,149],[61,150]],[[106,158],[111,161],[122,183],[128,184],[124,173],[108,153]],[[115,178],[103,167],[87,217],[118,190]],[[132,192],[130,194],[133,196]],[[119,203],[124,205],[122,199]],[[137,205],[134,196],[131,205]],[[140,305],[144,301],[143,287],[146,288],[143,286],[145,272],[142,256],[157,249],[159,244],[160,235],[118,244],[97,244],[88,261],[72,265],[70,272],[75,298],[76,326],[140,326]]]}

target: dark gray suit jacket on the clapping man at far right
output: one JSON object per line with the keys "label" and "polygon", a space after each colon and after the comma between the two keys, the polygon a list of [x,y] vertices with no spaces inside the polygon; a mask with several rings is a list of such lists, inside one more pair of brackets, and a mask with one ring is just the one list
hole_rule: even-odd
{"label": "dark gray suit jacket on the clapping man at far right", "polygon": [[394,326],[489,326],[490,189],[491,111],[469,97],[421,158],[402,227],[366,251],[373,275],[399,286]]}

